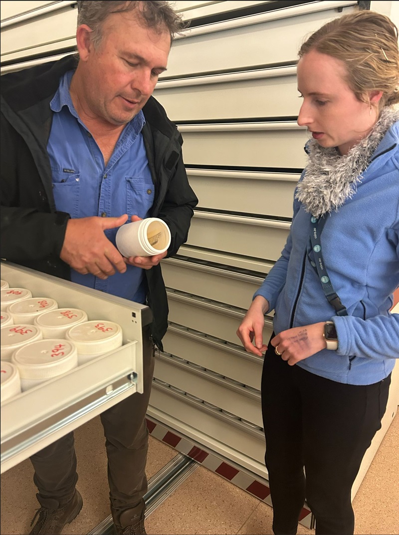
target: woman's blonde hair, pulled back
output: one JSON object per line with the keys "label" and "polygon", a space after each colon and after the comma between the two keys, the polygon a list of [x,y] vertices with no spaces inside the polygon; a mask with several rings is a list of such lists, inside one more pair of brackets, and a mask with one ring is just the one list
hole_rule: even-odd
{"label": "woman's blonde hair, pulled back", "polygon": [[311,50],[346,65],[346,81],[360,101],[366,102],[369,91],[382,91],[380,109],[399,102],[398,29],[385,15],[356,11],[327,22],[303,43],[298,56]]}

